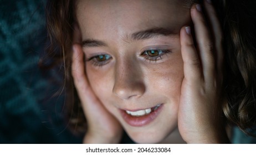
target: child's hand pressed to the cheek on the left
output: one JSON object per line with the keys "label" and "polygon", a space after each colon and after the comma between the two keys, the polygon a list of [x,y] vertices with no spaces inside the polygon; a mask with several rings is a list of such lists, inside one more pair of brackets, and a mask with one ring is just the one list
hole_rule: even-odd
{"label": "child's hand pressed to the cheek on the left", "polygon": [[89,85],[85,75],[84,54],[79,35],[79,29],[75,27],[71,72],[88,122],[84,143],[119,143],[122,127],[101,104]]}

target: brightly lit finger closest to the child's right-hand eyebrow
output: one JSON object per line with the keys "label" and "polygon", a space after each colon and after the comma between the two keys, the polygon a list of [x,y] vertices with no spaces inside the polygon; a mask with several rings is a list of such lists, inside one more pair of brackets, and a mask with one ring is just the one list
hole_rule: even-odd
{"label": "brightly lit finger closest to the child's right-hand eyebrow", "polygon": [[181,55],[185,79],[194,84],[202,78],[200,60],[196,48],[194,48],[190,27],[181,28]]}

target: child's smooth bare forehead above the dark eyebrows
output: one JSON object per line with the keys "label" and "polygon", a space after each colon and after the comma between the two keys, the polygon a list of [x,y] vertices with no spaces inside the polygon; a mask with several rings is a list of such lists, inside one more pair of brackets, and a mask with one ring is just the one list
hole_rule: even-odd
{"label": "child's smooth bare forehead above the dark eyebrows", "polygon": [[[132,33],[163,27],[179,32],[190,22],[186,0],[78,0],[76,17],[82,34]],[[95,32],[97,31],[97,32]],[[99,37],[101,34],[97,34]],[[84,38],[84,35],[83,35]]]}

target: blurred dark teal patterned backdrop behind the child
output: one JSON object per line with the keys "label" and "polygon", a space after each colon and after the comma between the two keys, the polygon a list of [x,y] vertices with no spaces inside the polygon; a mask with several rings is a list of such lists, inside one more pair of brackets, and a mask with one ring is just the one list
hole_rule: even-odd
{"label": "blurred dark teal patterned backdrop behind the child", "polygon": [[[45,0],[0,0],[0,143],[81,143],[63,118],[58,85],[38,68],[46,46]],[[47,77],[47,78],[46,78]],[[233,143],[256,143],[238,128]]]}

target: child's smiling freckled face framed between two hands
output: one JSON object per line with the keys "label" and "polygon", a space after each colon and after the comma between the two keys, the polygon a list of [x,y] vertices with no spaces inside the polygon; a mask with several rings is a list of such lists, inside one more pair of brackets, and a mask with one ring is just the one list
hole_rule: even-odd
{"label": "child's smiling freckled face framed between two hands", "polygon": [[180,29],[191,22],[185,5],[181,0],[76,3],[90,85],[136,142],[160,142],[177,127],[184,76]]}

